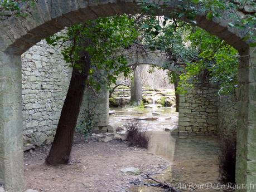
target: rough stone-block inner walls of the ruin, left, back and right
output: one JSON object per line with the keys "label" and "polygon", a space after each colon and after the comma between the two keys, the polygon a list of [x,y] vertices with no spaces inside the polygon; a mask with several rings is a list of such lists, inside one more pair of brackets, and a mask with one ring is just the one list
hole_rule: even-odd
{"label": "rough stone-block inner walls of the ruin, left, back and right", "polygon": [[[141,53],[136,48],[125,50],[123,54],[129,58],[129,64],[166,67],[170,59],[160,51]],[[175,70],[176,66],[177,61],[172,62],[169,69]],[[49,144],[54,138],[70,77],[71,68],[63,61],[60,50],[45,41],[22,55],[23,138],[27,149],[32,145]],[[85,126],[86,112],[95,106],[93,131],[113,131],[108,126],[108,91],[106,86],[102,87],[98,97],[88,90],[85,92],[77,126]],[[232,105],[235,101],[222,97],[218,103],[217,92],[218,87],[205,81],[181,95],[179,133],[204,135],[235,129],[236,106]]]}

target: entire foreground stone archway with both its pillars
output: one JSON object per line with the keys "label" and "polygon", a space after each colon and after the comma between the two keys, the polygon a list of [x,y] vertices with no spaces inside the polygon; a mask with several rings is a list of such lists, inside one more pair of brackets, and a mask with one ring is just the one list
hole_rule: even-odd
{"label": "entire foreground stone archway with both its pillars", "polygon": [[[168,16],[182,3],[170,1],[161,15]],[[65,26],[114,14],[136,14],[140,10],[137,2],[131,0],[38,0],[35,7],[26,12],[27,17],[6,16],[0,22],[0,183],[8,192],[24,189],[22,53]],[[225,40],[243,56],[239,63],[236,184],[249,186],[256,180],[256,53],[249,42],[243,41],[246,30],[230,28],[229,19],[229,14],[226,18],[210,20],[199,13],[195,21],[197,26]]]}

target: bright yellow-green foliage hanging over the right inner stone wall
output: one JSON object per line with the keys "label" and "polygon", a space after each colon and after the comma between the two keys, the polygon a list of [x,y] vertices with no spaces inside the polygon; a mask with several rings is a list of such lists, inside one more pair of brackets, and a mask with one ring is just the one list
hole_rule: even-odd
{"label": "bright yellow-green foliage hanging over the right inner stone wall", "polygon": [[192,87],[192,82],[199,80],[200,73],[206,72],[212,83],[225,87],[221,93],[229,93],[238,83],[238,51],[216,36],[203,29],[194,28],[187,39],[191,47],[197,50],[198,60],[187,62],[185,73],[180,76],[180,92]]}

